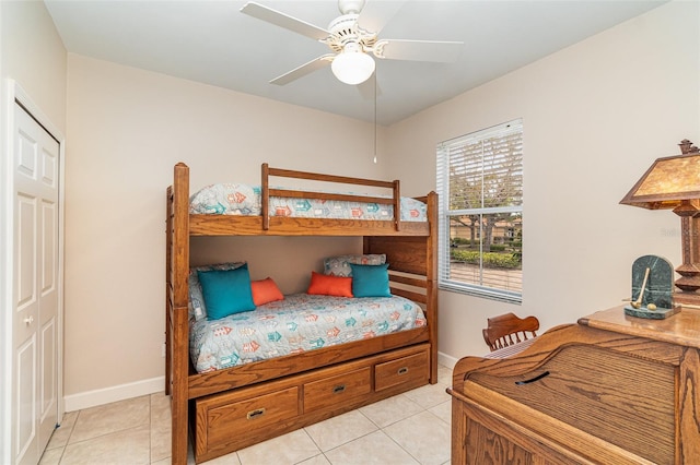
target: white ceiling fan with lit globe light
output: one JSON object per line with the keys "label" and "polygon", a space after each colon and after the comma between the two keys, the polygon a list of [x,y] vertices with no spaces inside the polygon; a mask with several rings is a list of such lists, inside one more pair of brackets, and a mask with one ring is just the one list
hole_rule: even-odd
{"label": "white ceiling fan with lit globe light", "polygon": [[332,51],[273,79],[271,84],[288,84],[328,64],[339,81],[360,84],[375,70],[370,53],[381,59],[433,62],[452,62],[459,56],[462,41],[378,38],[380,31],[368,31],[359,24],[364,3],[365,0],[338,0],[341,15],[332,20],[327,29],[255,2],[246,3],[241,11],[326,44]]}

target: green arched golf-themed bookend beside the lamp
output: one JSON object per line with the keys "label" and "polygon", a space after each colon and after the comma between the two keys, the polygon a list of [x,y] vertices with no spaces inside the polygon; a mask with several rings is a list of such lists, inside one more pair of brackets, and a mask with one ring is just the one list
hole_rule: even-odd
{"label": "green arched golf-themed bookend beside the lamp", "polygon": [[674,269],[657,255],[640,257],[632,264],[632,299],[625,313],[637,318],[663,320],[680,311],[674,307]]}

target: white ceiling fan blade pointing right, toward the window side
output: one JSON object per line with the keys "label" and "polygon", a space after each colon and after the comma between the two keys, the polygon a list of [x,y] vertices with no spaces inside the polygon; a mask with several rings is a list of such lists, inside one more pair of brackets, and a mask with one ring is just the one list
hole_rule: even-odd
{"label": "white ceiling fan blade pointing right, toward the window side", "polygon": [[382,39],[374,45],[374,55],[387,60],[450,63],[459,58],[463,47],[463,41]]}

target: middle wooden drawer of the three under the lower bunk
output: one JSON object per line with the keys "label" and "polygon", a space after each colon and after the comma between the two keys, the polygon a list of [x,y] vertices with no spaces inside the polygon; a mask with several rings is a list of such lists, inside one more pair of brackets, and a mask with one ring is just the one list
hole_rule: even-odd
{"label": "middle wooden drawer of the three under the lower bunk", "polygon": [[346,404],[372,392],[370,367],[304,384],[304,412]]}

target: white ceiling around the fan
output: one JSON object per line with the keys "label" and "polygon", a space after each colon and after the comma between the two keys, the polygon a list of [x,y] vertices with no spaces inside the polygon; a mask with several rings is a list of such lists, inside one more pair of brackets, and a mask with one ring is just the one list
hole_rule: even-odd
{"label": "white ceiling around the fan", "polygon": [[[454,63],[377,60],[376,106],[330,67],[269,84],[329,49],[241,13],[243,0],[45,2],[69,52],[387,126],[666,1],[368,0],[360,24],[385,22],[381,38],[465,43]],[[323,28],[340,14],[336,0],[258,2]]]}

